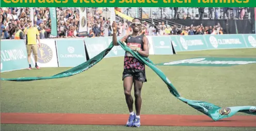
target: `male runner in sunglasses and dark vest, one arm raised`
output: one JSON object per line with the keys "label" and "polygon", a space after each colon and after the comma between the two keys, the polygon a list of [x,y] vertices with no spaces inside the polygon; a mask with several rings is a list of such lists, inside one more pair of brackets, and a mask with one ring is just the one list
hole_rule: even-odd
{"label": "male runner in sunglasses and dark vest, one arm raised", "polygon": [[[113,44],[118,45],[117,42],[117,23],[113,22]],[[141,35],[141,22],[138,18],[132,21],[132,35],[123,37],[120,41],[127,43],[132,50],[138,52],[140,55],[148,57],[149,47],[148,38],[145,35]],[[123,87],[127,106],[130,111],[129,120],[126,126],[140,126],[140,108],[141,97],[140,92],[144,82],[147,82],[145,74],[145,64],[133,57],[129,52],[125,52],[124,56],[124,71],[123,71]],[[134,84],[135,92],[135,108],[136,114],[133,111],[133,97],[131,95],[132,86]]]}

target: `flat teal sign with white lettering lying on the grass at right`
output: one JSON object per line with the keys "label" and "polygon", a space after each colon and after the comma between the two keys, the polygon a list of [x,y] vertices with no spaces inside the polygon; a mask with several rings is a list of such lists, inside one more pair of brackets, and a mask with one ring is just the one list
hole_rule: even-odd
{"label": "flat teal sign with white lettering lying on the grass at right", "polygon": [[169,66],[201,66],[201,67],[229,67],[233,65],[256,63],[256,58],[215,58],[215,57],[199,57],[178,61],[159,63],[156,65]]}

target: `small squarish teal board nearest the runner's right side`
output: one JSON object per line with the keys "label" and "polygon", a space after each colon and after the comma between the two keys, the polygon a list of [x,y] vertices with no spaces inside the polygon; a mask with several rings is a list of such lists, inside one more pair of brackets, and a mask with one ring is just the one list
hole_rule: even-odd
{"label": "small squarish teal board nearest the runner's right side", "polygon": [[155,55],[172,55],[170,37],[152,37]]}

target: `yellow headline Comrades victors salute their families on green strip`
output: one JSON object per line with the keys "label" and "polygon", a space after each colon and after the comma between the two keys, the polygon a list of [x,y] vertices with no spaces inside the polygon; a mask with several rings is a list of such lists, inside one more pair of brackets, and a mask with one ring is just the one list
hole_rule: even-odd
{"label": "yellow headline Comrades victors salute their families on green strip", "polygon": [[103,3],[120,3],[120,4],[135,4],[135,3],[149,3],[149,4],[156,4],[160,1],[160,3],[172,3],[172,4],[239,4],[239,3],[249,3],[250,1],[256,1],[256,0],[1,0],[4,3],[84,3],[84,4],[103,4]]}

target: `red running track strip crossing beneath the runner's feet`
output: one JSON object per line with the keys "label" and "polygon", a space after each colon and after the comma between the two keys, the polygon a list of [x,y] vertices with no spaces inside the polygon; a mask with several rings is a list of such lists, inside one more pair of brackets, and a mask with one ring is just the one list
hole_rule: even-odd
{"label": "red running track strip crossing beneath the runner's feet", "polygon": [[[1,124],[125,125],[128,114],[1,113]],[[207,116],[142,114],[141,125],[256,127],[255,116],[233,116],[213,121]]]}

